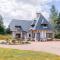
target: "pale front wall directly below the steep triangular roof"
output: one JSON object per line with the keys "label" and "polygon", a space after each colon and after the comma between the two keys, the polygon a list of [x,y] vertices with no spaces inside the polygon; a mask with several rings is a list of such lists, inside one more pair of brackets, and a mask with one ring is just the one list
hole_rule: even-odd
{"label": "pale front wall directly below the steep triangular roof", "polygon": [[53,36],[53,32],[49,31],[49,30],[39,30],[39,31],[34,30],[33,33],[35,33],[35,38],[34,38],[35,41],[37,41],[37,40],[43,40],[43,41],[47,40],[48,39],[48,37],[46,35],[47,33],[52,33],[52,36]]}

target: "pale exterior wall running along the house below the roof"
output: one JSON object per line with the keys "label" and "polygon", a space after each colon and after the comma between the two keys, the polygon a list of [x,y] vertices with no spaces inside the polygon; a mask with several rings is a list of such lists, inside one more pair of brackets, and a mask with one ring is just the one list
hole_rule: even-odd
{"label": "pale exterior wall running along the house below the roof", "polygon": [[[16,34],[21,34],[21,38],[23,38],[24,40],[46,40],[48,37],[46,36],[47,33],[52,33],[52,31],[46,31],[46,30],[41,30],[41,31],[29,31],[27,32],[12,32],[12,36],[13,38],[16,37]],[[31,35],[31,37],[29,37],[29,34]],[[53,35],[53,33],[52,33]]]}

